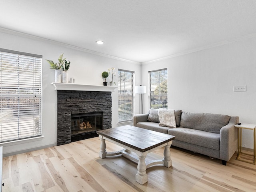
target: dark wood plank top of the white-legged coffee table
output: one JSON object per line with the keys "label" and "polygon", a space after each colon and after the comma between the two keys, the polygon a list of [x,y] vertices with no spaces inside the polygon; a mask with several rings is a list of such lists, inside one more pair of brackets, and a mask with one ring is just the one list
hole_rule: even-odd
{"label": "dark wood plank top of the white-legged coffee table", "polygon": [[97,131],[97,134],[129,146],[140,152],[148,151],[171,140],[175,136],[130,125]]}

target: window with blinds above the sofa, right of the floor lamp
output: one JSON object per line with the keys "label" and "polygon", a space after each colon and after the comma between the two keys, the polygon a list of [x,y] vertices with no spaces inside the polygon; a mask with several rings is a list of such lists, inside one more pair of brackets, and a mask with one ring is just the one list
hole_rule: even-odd
{"label": "window with blinds above the sofa, right of the floor lamp", "polygon": [[149,71],[150,108],[167,109],[167,69]]}

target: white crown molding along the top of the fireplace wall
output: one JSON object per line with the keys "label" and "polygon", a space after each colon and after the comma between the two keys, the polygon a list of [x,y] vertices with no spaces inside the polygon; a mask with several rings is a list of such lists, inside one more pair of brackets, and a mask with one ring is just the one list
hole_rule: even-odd
{"label": "white crown molding along the top of the fireplace wall", "polygon": [[124,62],[128,62],[128,63],[132,63],[132,64],[138,64],[138,65],[141,64],[140,62],[136,62],[136,61],[132,61],[132,60],[124,59],[124,58],[119,58],[119,57],[116,57],[116,56],[112,56],[112,55],[92,51],[92,50],[89,50],[89,49],[73,46],[73,45],[70,45],[70,44],[66,44],[66,43],[62,43],[62,42],[42,38],[42,37],[39,37],[39,36],[34,36],[34,35],[31,35],[31,34],[27,34],[27,33],[18,32],[18,31],[6,29],[6,28],[1,28],[0,27],[0,32],[10,34],[10,35],[19,36],[19,37],[29,38],[29,39],[33,39],[33,40],[40,40],[42,42],[48,42],[48,43],[64,46],[66,48],[71,48],[71,49],[74,49],[74,50],[79,50],[79,51],[82,51],[82,52],[86,52],[86,53],[90,53],[90,54],[94,54],[94,55],[98,55],[98,56],[102,56],[102,57],[106,57],[106,58],[111,58],[111,59],[115,59],[115,60],[120,60],[120,61],[124,61]]}

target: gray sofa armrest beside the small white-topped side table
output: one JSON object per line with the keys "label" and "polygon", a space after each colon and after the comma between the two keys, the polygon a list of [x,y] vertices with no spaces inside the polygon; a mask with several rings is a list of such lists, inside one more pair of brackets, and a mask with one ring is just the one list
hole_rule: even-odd
{"label": "gray sofa armrest beside the small white-topped side table", "polygon": [[228,124],[220,129],[220,159],[229,161],[238,146],[238,116],[230,116]]}

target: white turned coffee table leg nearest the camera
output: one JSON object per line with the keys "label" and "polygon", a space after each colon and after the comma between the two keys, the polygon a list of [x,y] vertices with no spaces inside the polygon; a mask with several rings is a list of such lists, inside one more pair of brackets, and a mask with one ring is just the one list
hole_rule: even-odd
{"label": "white turned coffee table leg nearest the camera", "polygon": [[136,154],[139,158],[139,162],[137,166],[138,172],[135,176],[135,180],[139,184],[143,185],[144,183],[148,182],[148,175],[146,174],[146,163],[145,163],[145,158],[148,153],[136,151]]}

